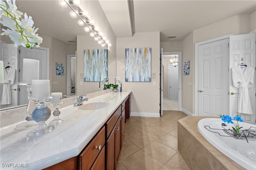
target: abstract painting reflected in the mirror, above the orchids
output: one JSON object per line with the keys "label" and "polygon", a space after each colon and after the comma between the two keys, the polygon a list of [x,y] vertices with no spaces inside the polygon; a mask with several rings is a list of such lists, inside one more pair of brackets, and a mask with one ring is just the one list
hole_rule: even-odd
{"label": "abstract painting reflected in the mirror, above the orchids", "polygon": [[84,81],[100,82],[108,77],[108,49],[84,50]]}

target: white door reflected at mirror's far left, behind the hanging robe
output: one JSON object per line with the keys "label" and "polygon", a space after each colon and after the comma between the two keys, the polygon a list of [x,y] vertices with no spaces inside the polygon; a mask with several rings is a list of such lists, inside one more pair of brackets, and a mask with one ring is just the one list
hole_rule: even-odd
{"label": "white door reflected at mirror's far left, behind the hanging robe", "polygon": [[[1,105],[1,109],[6,108],[6,107],[13,107],[17,106],[18,103],[18,94],[17,94],[17,76],[18,76],[18,48],[14,47],[14,44],[4,44],[1,43],[1,56],[0,60],[4,61],[4,68],[6,66],[11,66],[12,68],[16,69],[16,74],[15,74],[15,81],[12,86],[10,86],[11,89],[11,96],[12,96],[12,104],[8,105]],[[3,90],[3,85],[0,86],[0,99],[2,98],[2,90]]]}

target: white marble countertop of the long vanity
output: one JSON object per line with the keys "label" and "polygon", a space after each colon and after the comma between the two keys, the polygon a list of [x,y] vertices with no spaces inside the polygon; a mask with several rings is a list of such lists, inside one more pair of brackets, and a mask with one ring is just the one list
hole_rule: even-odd
{"label": "white marble countertop of the long vanity", "polygon": [[[64,122],[43,136],[28,137],[27,133],[31,129],[18,131],[15,129],[17,123],[1,128],[0,169],[38,170],[77,156],[130,92],[130,89],[110,92],[84,102],[108,102],[110,106],[103,109],[80,110],[73,103],[64,108],[60,106],[59,117]],[[51,115],[46,123],[53,119]]]}

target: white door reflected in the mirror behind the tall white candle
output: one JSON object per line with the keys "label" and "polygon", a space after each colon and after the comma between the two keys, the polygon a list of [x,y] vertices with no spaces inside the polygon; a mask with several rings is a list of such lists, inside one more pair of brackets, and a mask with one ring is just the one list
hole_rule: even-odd
{"label": "white door reflected in the mirror behind the tall white candle", "polygon": [[[23,59],[39,60],[39,79],[46,80],[46,50],[37,48],[20,47],[20,80],[22,82]],[[31,73],[33,74],[33,73]],[[28,103],[27,86],[20,86],[19,105]]]}

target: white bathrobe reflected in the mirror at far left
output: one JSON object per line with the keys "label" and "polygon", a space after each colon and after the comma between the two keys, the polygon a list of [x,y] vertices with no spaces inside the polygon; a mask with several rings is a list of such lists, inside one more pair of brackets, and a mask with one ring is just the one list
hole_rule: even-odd
{"label": "white bathrobe reflected in the mirror at far left", "polygon": [[14,84],[16,70],[12,67],[6,68],[4,71],[4,84],[1,98],[1,105],[12,104],[12,95],[10,86]]}

